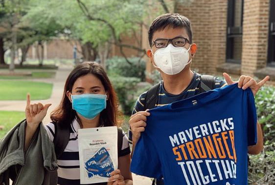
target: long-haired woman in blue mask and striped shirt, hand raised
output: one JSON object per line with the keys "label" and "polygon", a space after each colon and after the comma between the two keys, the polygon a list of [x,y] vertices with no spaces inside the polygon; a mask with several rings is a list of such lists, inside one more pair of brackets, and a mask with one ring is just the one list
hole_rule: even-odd
{"label": "long-haired woman in blue mask and striped shirt, hand raised", "polygon": [[[106,108],[101,104],[97,105],[98,107],[93,111],[85,109],[86,104],[97,101],[98,98],[104,99],[102,103],[105,103]],[[86,103],[76,106],[79,99]],[[41,103],[30,104],[30,96],[29,94],[27,95],[25,148],[28,147],[39,123],[46,116],[50,105]],[[62,126],[70,130],[69,143],[58,159],[59,185],[80,184],[78,129],[118,126],[117,112],[115,91],[106,72],[100,65],[94,62],[84,62],[70,72],[65,83],[62,101],[51,113],[50,118],[52,122],[46,125],[47,133],[52,141],[55,137],[55,124],[62,124]],[[125,134],[122,140],[122,147],[118,148],[118,169],[111,173],[109,179],[113,182],[94,185],[133,184],[130,172],[130,147]]]}

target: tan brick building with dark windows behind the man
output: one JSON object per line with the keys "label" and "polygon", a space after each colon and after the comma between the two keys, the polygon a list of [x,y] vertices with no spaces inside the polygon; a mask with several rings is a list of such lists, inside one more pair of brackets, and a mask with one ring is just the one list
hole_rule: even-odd
{"label": "tan brick building with dark windows behind the man", "polygon": [[[191,21],[198,47],[192,69],[260,79],[270,75],[275,81],[275,0],[193,0],[180,4],[176,12]],[[144,28],[142,35],[142,46],[148,49]],[[152,69],[148,62],[147,71]]]}

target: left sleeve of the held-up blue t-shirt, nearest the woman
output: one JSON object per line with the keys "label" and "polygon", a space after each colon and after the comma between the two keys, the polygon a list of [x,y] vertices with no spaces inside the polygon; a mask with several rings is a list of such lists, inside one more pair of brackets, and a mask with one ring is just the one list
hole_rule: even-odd
{"label": "left sleeve of the held-up blue t-shirt, nearest the woman", "polygon": [[146,134],[141,134],[135,147],[131,162],[131,172],[156,179],[162,177],[157,149]]}

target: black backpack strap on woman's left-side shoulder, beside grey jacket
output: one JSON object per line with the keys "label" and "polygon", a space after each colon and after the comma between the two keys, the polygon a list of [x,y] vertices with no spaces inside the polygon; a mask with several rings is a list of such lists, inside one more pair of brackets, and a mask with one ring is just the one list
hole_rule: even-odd
{"label": "black backpack strap on woman's left-side shoulder, beside grey jacket", "polygon": [[60,123],[54,123],[54,151],[56,155],[56,159],[59,159],[65,150],[66,146],[69,142],[69,128],[61,126]]}

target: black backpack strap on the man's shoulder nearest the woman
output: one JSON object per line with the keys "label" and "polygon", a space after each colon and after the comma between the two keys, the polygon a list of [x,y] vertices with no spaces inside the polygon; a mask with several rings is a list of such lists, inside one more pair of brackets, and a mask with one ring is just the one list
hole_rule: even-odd
{"label": "black backpack strap on the man's shoulder nearest the woman", "polygon": [[[161,83],[161,82],[160,82]],[[151,87],[148,92],[146,93],[145,96],[145,105],[144,105],[144,109],[153,109],[155,108],[155,105],[158,101],[158,94],[159,94],[159,90],[160,90],[160,83],[154,85],[153,87]]]}

